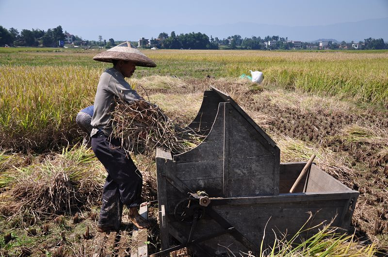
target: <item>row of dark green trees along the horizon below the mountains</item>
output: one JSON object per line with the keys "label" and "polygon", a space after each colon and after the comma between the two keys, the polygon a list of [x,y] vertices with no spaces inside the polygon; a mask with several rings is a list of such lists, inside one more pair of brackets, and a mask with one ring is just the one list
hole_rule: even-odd
{"label": "row of dark green trees along the horizon below the mountains", "polygon": [[[9,30],[0,26],[0,45],[14,45],[14,46],[46,46],[56,47],[59,46],[59,41],[65,41],[65,33],[61,26],[56,28],[45,30],[32,29],[21,30],[20,32],[15,28]],[[113,38],[110,38],[108,42],[102,40],[102,36],[98,36],[98,41],[82,40],[79,36],[73,36],[73,45],[97,45],[100,47],[110,48],[119,44],[115,42]],[[132,42],[135,43],[135,42]],[[165,49],[293,49],[293,48],[318,48],[319,43],[298,42],[296,45],[294,41],[288,40],[287,37],[269,36],[264,38],[252,36],[250,38],[242,38],[240,35],[228,36],[227,38],[219,39],[213,38],[210,35],[201,32],[181,33],[176,35],[175,31],[172,31],[170,35],[166,32],[159,34],[157,38],[151,38],[149,44],[141,45],[145,48],[158,47]],[[364,41],[358,43],[347,43],[342,41],[341,43],[328,42],[326,48],[328,49],[388,49],[388,44],[384,43],[382,38],[374,39],[367,38]]]}

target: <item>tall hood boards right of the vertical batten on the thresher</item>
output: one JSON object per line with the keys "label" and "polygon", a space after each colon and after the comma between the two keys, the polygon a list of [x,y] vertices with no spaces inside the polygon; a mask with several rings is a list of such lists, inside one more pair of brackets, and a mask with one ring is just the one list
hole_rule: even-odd
{"label": "tall hood boards right of the vertical batten on the thresher", "polygon": [[228,189],[226,197],[278,194],[277,148],[271,146],[234,107],[228,119]]}

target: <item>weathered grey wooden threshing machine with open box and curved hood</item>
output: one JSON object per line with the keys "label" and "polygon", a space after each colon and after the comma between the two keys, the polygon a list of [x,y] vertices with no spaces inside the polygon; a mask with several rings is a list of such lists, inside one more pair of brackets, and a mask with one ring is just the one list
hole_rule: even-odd
{"label": "weathered grey wooden threshing machine with open box and curved hood", "polygon": [[[334,219],[332,226],[348,229],[358,192],[312,164],[289,193],[306,163],[280,163],[275,142],[229,95],[205,91],[189,127],[206,136],[197,147],[174,156],[157,150],[162,252],[156,256],[183,247],[200,257],[255,255],[264,229],[270,247],[274,231],[295,234],[308,212],[309,227]],[[171,246],[171,237],[180,244]]]}

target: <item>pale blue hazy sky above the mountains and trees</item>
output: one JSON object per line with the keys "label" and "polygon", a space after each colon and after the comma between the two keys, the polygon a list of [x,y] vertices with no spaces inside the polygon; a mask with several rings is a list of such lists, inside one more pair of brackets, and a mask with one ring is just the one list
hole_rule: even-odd
{"label": "pale blue hazy sky above the mountains and trees", "polygon": [[98,35],[115,40],[157,37],[155,31],[170,33],[182,25],[193,30],[241,22],[294,27],[383,17],[388,17],[388,0],[0,0],[0,25],[6,29],[61,25],[90,40]]}

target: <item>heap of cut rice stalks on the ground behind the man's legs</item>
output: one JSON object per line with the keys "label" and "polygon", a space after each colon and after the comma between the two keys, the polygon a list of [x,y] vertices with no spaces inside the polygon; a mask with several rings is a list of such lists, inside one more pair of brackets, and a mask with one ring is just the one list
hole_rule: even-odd
{"label": "heap of cut rice stalks on the ground behind the man's legs", "polygon": [[6,195],[1,196],[0,213],[10,217],[28,213],[45,218],[97,204],[104,174],[91,165],[92,153],[85,148],[76,151],[84,153],[82,160],[74,158],[77,154],[65,152],[3,174],[9,178],[9,184]]}

